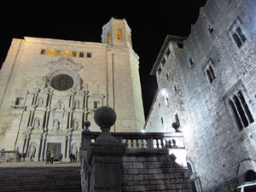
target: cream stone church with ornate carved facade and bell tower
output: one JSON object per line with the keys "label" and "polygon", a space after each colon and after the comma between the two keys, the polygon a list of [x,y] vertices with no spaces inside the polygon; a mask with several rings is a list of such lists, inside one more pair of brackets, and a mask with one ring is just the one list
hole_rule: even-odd
{"label": "cream stone church with ornate carved facade and bell tower", "polygon": [[126,20],[102,27],[102,44],[48,38],[13,39],[0,74],[0,148],[32,160],[79,153],[84,122],[109,106],[113,131],[141,131],[143,101],[138,55]]}

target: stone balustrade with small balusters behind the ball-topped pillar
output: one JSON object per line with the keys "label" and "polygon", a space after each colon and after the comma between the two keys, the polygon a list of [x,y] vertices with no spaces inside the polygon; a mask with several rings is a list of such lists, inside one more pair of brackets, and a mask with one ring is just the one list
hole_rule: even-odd
{"label": "stone balustrade with small balusters behind the ball-topped pillar", "polygon": [[[89,143],[95,143],[101,132],[83,131],[82,149]],[[125,143],[127,149],[185,148],[183,134],[177,132],[111,132],[119,143]]]}

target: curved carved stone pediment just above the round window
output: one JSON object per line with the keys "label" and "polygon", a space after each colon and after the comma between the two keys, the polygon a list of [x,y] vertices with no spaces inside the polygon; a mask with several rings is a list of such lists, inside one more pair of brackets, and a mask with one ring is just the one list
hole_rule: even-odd
{"label": "curved carved stone pediment just above the round window", "polygon": [[49,71],[54,71],[58,68],[72,69],[74,72],[79,72],[82,65],[75,63],[71,58],[60,58],[58,61],[50,61],[48,63]]}

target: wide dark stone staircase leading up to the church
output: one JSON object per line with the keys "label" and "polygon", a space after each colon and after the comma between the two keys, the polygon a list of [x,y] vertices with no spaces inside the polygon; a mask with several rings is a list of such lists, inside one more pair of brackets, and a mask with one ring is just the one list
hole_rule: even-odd
{"label": "wide dark stone staircase leading up to the church", "polygon": [[0,191],[81,192],[80,166],[0,167]]}

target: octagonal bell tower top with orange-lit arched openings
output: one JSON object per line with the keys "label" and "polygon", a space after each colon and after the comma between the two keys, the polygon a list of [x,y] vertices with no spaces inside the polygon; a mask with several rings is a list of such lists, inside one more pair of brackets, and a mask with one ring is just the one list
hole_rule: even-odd
{"label": "octagonal bell tower top with orange-lit arched openings", "polygon": [[125,19],[119,20],[112,17],[106,25],[102,26],[102,44],[132,47],[131,28]]}

